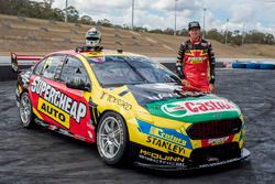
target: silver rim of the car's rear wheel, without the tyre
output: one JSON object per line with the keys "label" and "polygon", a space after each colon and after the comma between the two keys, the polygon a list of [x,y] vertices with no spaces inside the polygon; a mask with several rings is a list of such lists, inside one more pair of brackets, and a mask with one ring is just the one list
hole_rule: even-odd
{"label": "silver rim of the car's rear wheel, without the tyre", "polygon": [[23,95],[21,98],[21,105],[20,105],[20,117],[23,122],[23,125],[28,125],[31,119],[31,101],[30,98],[26,95]]}

